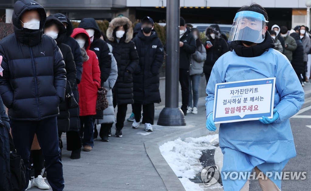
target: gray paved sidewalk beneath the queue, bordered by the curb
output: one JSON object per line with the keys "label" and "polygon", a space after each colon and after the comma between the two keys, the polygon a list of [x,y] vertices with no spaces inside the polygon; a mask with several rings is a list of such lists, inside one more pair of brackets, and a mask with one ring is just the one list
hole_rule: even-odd
{"label": "gray paved sidewalk beneath the queue, bordered by the curb", "polygon": [[[156,125],[163,106],[156,107],[153,132],[146,132],[143,124],[138,129],[133,129],[131,122],[125,122],[122,130],[123,137],[116,138],[114,137],[115,127],[113,126],[109,142],[96,140],[92,151],[81,151],[81,159],[77,160],[69,158],[71,152],[66,150],[66,135],[63,134],[64,190],[167,190],[146,154],[144,142],[190,129],[197,125],[204,127],[206,122],[205,98],[199,98],[198,105],[198,114],[188,114],[186,116],[187,126],[183,127]],[[129,109],[127,117],[129,117],[130,111]],[[28,190],[39,189],[31,188]]]}

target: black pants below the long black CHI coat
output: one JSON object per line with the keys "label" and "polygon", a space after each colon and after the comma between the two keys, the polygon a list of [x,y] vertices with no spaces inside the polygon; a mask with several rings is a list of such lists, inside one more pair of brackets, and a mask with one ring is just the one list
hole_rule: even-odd
{"label": "black pants below the long black CHI coat", "polygon": [[134,103],[134,115],[135,115],[135,121],[139,122],[142,118],[142,112],[144,113],[144,116],[142,118],[142,123],[150,123],[153,125],[153,121],[155,119],[155,104],[150,103],[146,105],[142,105],[139,103]]}

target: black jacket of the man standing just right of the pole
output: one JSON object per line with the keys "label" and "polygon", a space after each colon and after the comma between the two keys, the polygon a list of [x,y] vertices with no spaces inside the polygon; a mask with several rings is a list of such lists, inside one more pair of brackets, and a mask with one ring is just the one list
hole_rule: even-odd
{"label": "black jacket of the man standing just right of the pole", "polygon": [[187,28],[179,41],[183,42],[183,46],[179,48],[179,68],[189,70],[191,54],[196,50],[195,39],[189,28]]}

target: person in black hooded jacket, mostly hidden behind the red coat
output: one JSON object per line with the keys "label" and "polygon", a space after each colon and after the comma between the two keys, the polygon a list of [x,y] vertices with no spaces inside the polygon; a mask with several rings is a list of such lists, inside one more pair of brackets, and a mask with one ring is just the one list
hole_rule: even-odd
{"label": "person in black hooded jacket, mostly hidden behind the red coat", "polygon": [[[94,51],[98,57],[100,67],[100,81],[104,83],[107,81],[111,70],[111,54],[107,43],[100,39],[101,33],[96,20],[93,18],[82,19],[79,28],[83,28],[89,34],[91,39],[90,50]],[[103,119],[104,112],[96,111],[94,116],[94,139],[97,139],[98,131],[96,128],[95,119]]]}

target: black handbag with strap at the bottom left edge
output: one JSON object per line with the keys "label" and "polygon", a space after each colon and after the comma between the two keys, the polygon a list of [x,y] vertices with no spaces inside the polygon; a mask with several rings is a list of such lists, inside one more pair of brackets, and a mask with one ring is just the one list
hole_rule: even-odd
{"label": "black handbag with strap at the bottom left edge", "polygon": [[26,187],[26,178],[25,178],[26,169],[23,159],[21,158],[21,156],[16,154],[13,139],[8,129],[7,134],[9,136],[10,141],[10,171],[11,171],[12,190],[20,191]]}

